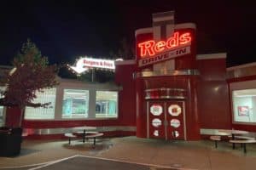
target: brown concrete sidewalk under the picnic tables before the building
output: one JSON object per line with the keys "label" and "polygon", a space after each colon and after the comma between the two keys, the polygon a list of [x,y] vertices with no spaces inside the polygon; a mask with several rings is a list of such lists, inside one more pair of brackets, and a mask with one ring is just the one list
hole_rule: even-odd
{"label": "brown concrete sidewalk under the picnic tables before the building", "polygon": [[247,145],[247,155],[240,146],[220,142],[218,149],[212,141],[165,141],[136,137],[99,139],[96,147],[67,140],[25,140],[20,156],[0,157],[0,168],[28,169],[69,156],[95,156],[119,161],[154,164],[177,169],[254,169],[256,145]]}

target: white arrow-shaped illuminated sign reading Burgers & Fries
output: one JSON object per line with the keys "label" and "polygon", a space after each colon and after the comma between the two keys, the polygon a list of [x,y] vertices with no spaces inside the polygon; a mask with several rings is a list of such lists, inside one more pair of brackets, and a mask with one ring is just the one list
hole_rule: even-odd
{"label": "white arrow-shaped illuminated sign reading Burgers & Fries", "polygon": [[76,71],[78,74],[87,71],[90,68],[99,68],[99,69],[107,69],[114,70],[114,60],[110,59],[93,59],[93,58],[81,58],[77,61],[76,65],[67,65],[73,71]]}

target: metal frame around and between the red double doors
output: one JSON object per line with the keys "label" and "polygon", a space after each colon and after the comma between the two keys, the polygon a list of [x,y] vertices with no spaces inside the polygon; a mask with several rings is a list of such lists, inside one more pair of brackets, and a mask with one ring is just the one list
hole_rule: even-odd
{"label": "metal frame around and between the red double doors", "polygon": [[[167,105],[166,103],[172,103],[172,101],[181,102],[182,103],[182,109],[183,109],[183,133],[184,133],[184,140],[187,140],[187,126],[186,126],[186,110],[185,110],[185,101],[184,100],[160,100],[160,99],[152,99],[147,100],[147,138],[149,139],[149,102],[161,102],[164,104],[164,114],[165,114],[165,120],[164,123],[166,124],[166,115],[167,115]],[[167,140],[167,127],[165,125],[165,139]]]}

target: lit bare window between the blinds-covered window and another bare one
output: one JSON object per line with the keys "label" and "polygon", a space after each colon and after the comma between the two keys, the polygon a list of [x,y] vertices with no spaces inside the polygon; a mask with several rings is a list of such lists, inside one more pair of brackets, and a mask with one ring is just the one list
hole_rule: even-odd
{"label": "lit bare window between the blinds-covered window and another bare one", "polygon": [[89,91],[64,89],[62,101],[62,118],[88,117]]}

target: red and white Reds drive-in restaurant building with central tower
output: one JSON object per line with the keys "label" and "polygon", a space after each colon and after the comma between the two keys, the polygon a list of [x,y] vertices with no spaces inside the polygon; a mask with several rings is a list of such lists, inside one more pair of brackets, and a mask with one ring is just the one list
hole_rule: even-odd
{"label": "red and white Reds drive-in restaurant building with central tower", "polygon": [[[174,24],[172,12],[153,14],[152,27],[135,31],[136,58],[115,61],[114,83],[60,78],[36,99],[49,108],[26,107],[23,127],[32,138],[84,125],[108,136],[171,140],[255,131],[256,64],[226,68],[225,53],[196,54],[195,34],[193,23]],[[19,111],[3,112],[5,125],[15,126]]]}

